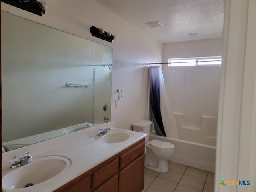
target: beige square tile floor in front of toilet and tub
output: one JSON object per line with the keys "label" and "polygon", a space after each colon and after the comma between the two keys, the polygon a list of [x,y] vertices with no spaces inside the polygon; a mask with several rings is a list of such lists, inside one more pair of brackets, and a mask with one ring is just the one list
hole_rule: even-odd
{"label": "beige square tile floor in front of toilet and tub", "polygon": [[214,173],[170,162],[166,173],[145,168],[142,192],[213,192]]}

